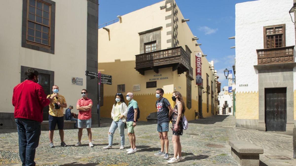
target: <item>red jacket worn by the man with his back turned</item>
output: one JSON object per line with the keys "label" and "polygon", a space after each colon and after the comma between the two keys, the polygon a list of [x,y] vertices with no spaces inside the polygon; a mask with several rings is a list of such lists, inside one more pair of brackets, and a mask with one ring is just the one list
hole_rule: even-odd
{"label": "red jacket worn by the man with his back turned", "polygon": [[49,99],[46,99],[41,85],[25,80],[13,88],[12,105],[15,107],[15,118],[42,122],[42,110],[49,105]]}

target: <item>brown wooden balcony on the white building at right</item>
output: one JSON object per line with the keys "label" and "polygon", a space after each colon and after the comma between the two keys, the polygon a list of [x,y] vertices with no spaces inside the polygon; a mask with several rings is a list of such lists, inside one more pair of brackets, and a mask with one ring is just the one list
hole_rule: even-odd
{"label": "brown wooden balcony on the white building at right", "polygon": [[288,47],[265,48],[256,50],[258,65],[294,62],[294,45]]}

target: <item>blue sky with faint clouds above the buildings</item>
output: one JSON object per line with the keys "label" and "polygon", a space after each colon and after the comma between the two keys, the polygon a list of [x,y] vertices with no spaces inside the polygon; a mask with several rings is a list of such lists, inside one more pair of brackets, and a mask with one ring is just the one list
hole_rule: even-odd
{"label": "blue sky with faint clouds above the buildings", "polygon": [[[160,0],[99,0],[99,25],[118,15],[141,9]],[[207,60],[214,61],[221,87],[227,86],[223,70],[232,70],[235,58],[235,4],[251,0],[175,0]]]}

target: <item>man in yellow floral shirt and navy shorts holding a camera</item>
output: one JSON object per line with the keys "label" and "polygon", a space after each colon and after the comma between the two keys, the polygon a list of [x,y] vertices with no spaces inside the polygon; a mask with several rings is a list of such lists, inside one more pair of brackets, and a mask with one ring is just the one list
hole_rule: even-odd
{"label": "man in yellow floral shirt and navy shorts holding a camera", "polygon": [[[53,94],[57,94],[51,103],[49,103],[49,147],[53,148],[54,144],[52,139],[54,137],[54,129],[57,125],[59,129],[59,136],[61,138],[61,146],[67,146],[64,142],[64,108],[67,108],[65,97],[59,94],[59,87],[57,85],[52,86]],[[48,95],[49,96],[49,95]],[[47,96],[47,97],[48,97]]]}

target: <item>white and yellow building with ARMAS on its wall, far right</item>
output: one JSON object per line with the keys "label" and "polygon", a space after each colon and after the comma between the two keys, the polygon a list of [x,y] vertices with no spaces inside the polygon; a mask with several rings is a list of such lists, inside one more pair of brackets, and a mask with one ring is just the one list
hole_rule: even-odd
{"label": "white and yellow building with ARMAS on its wall, far right", "polygon": [[236,126],[292,133],[295,106],[293,0],[236,4]]}

